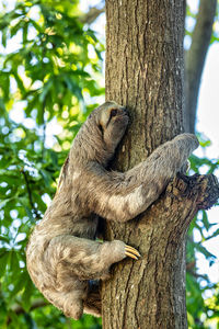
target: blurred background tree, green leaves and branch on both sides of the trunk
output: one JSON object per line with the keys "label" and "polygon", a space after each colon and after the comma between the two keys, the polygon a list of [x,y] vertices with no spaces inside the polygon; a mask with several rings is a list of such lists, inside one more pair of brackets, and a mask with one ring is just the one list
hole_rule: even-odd
{"label": "blurred background tree, green leaves and branch on both sides of the trunk", "polygon": [[[91,29],[104,12],[104,3],[96,2],[87,13],[80,10],[77,0],[1,3],[0,328],[101,328],[101,320],[91,316],[83,316],[80,321],[67,319],[42,297],[25,269],[31,228],[42,218],[55,194],[60,167],[78,129],[104,100],[101,86],[104,39]],[[209,10],[205,8],[207,3]],[[186,15],[195,21],[193,25],[198,32],[204,29],[206,33],[200,37],[205,43],[200,44],[194,26],[186,30],[192,38],[186,55],[186,86],[189,86],[186,97],[189,91],[193,102],[187,101],[186,109],[191,112],[186,112],[185,118],[187,131],[194,131],[205,56],[209,44],[218,42],[212,29],[216,0],[200,0],[197,14],[187,5]],[[194,77],[196,87],[189,84]],[[205,149],[210,141],[199,137]],[[195,172],[203,168],[205,172],[214,172],[217,166],[218,160],[192,158]],[[201,236],[198,242],[193,239],[194,229]],[[218,287],[207,275],[199,275],[196,266],[197,251],[210,263],[216,261],[203,242],[218,234],[219,228],[208,220],[206,212],[200,212],[191,226],[187,245],[191,328],[212,328],[212,321],[219,322]],[[205,291],[210,291],[210,298],[204,298]]]}

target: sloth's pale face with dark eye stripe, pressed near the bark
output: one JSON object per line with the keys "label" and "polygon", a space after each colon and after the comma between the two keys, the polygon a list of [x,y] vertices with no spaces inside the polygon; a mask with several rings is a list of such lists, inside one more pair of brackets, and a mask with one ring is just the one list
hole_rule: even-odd
{"label": "sloth's pale face with dark eye stripe, pressed near the bark", "polygon": [[100,106],[97,125],[105,144],[115,149],[128,125],[126,109],[114,102],[104,103]]}

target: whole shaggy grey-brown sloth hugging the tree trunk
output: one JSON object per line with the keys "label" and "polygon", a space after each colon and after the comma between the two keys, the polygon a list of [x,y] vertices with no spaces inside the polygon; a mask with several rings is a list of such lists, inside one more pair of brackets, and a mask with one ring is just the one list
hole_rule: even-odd
{"label": "whole shaggy grey-brown sloth hugging the tree trunk", "polygon": [[181,134],[127,172],[108,170],[127,125],[126,109],[115,102],[90,114],[26,248],[34,284],[67,317],[100,316],[99,281],[110,277],[113,263],[140,257],[124,241],[96,239],[101,217],[123,224],[145,212],[198,147],[194,135]]}

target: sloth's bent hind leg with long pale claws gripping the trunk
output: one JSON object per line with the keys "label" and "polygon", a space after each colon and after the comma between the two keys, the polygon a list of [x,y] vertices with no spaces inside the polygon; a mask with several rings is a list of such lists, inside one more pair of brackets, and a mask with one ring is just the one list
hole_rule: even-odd
{"label": "sloth's bent hind leg with long pale claws gripping the trunk", "polygon": [[[53,254],[49,256],[49,250]],[[68,269],[80,280],[106,279],[108,268],[126,257],[138,259],[139,252],[123,241],[99,242],[73,236],[54,238],[47,249],[48,258]],[[62,269],[64,270],[64,269]]]}

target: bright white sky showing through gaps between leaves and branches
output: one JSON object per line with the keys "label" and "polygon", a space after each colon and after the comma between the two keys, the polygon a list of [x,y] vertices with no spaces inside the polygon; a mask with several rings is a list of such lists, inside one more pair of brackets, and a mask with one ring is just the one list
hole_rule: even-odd
{"label": "bright white sky showing through gaps between leaves and branches", "polygon": [[[13,8],[14,0],[8,1],[9,8]],[[87,11],[89,9],[89,3],[91,1],[81,1],[81,10]],[[96,3],[100,3],[100,0],[93,0],[92,5],[95,5]],[[197,11],[197,3],[198,1],[188,0],[188,4],[191,5],[191,10],[193,12]],[[0,10],[1,10],[2,0],[0,0]],[[193,25],[193,20],[188,22],[191,26]],[[101,38],[104,38],[104,30],[105,30],[105,15],[102,14],[96,22],[92,25],[92,27],[97,32],[97,35]],[[219,31],[219,26],[218,31]],[[12,48],[15,46],[14,41],[9,44],[9,50],[12,50]],[[2,50],[2,47],[0,45],[0,50]],[[198,109],[197,109],[197,131],[199,133],[205,134],[210,140],[211,146],[208,147],[206,150],[206,155],[211,159],[218,159],[219,158],[219,106],[218,106],[218,88],[219,88],[219,44],[212,44],[209,47],[206,64],[201,77],[201,83],[200,83],[200,91],[199,91],[199,98],[198,98]],[[22,106],[22,104],[20,103]],[[18,118],[18,113],[20,116],[20,120],[23,120],[21,116],[21,111],[18,107],[16,111],[14,111],[14,116]],[[14,118],[15,118],[14,117]],[[30,124],[33,124],[30,122]],[[57,126],[55,127],[57,129]],[[48,127],[48,135],[53,134],[53,129]],[[53,144],[53,139],[49,139]],[[201,156],[200,148],[196,151],[196,155]],[[219,177],[219,170],[218,170],[218,177]],[[219,223],[219,206],[212,207],[210,211],[208,211],[208,216],[210,223]],[[215,229],[219,227],[216,226]],[[198,231],[195,232],[195,240],[199,241],[200,236]],[[208,262],[206,261],[205,257],[201,254],[198,254],[198,261],[197,266],[199,268],[200,273],[208,273],[210,276],[210,280],[212,282],[219,282],[219,237],[214,238],[207,242],[204,242],[204,246],[214,254],[217,256],[218,260],[215,265],[209,268]]]}

